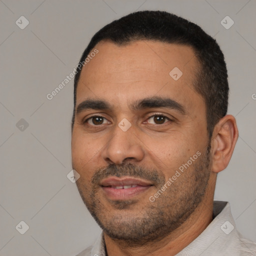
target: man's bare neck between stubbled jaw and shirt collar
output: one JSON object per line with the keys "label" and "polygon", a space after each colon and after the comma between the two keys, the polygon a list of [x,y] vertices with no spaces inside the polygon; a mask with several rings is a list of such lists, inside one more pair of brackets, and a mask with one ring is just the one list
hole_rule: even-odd
{"label": "man's bare neck between stubbled jaw and shirt collar", "polygon": [[132,247],[126,241],[116,241],[103,232],[108,256],[176,255],[192,242],[212,221],[214,182],[194,212],[174,231],[157,241],[148,241],[142,246]]}

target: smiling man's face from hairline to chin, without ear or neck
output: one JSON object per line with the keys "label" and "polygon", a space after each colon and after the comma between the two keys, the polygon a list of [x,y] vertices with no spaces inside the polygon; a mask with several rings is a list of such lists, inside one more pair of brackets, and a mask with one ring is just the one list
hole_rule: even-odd
{"label": "smiling man's face from hairline to chin, without ear or neck", "polygon": [[[78,190],[110,237],[164,236],[193,212],[210,173],[205,103],[192,85],[196,58],[188,46],[156,41],[96,48],[76,93]],[[174,67],[181,76],[169,74]]]}

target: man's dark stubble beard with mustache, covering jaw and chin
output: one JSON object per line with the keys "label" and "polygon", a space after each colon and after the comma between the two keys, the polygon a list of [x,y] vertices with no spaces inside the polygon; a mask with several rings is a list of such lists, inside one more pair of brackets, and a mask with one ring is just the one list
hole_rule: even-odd
{"label": "man's dark stubble beard with mustache, covering jaw and chin", "polygon": [[[166,182],[157,170],[140,168],[130,163],[120,166],[110,164],[95,171],[90,191],[84,186],[82,178],[76,181],[76,185],[89,212],[110,238],[130,246],[140,246],[170,234],[202,201],[210,175],[209,152],[210,144],[154,202],[150,202],[146,197],[143,208],[140,208],[139,201],[134,199],[111,201],[111,206],[105,208],[98,196],[97,182],[110,175],[131,175],[155,181],[158,184],[156,192]],[[132,211],[135,205],[138,205],[138,210]],[[116,214],[111,214],[112,208]]]}

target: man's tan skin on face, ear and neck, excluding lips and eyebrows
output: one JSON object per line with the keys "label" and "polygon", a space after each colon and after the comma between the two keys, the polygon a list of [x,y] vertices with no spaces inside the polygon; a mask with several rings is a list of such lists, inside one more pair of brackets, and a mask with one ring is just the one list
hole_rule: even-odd
{"label": "man's tan skin on face, ear and neck, excluding lips and eyebrows", "polygon": [[[199,64],[191,47],[140,40],[123,46],[101,41],[95,48],[99,52],[80,75],[76,107],[90,98],[111,108],[75,115],[71,148],[78,190],[103,229],[107,255],[175,255],[212,220],[216,174],[227,166],[238,137],[235,118],[221,118],[209,141],[205,103],[192,86]],[[169,75],[175,66],[183,73],[178,80]],[[131,107],[155,96],[175,100],[184,113]],[[94,115],[103,121],[98,124]],[[158,122],[159,115],[167,118]],[[131,124],[127,131],[118,126],[123,118]],[[198,159],[150,202],[197,151]],[[114,175],[140,175],[152,185],[131,199],[113,200],[98,182]]]}

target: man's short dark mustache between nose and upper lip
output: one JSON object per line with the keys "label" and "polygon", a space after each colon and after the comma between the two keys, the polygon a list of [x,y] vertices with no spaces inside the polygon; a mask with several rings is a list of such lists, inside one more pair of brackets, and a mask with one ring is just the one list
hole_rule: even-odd
{"label": "man's short dark mustache between nose and upper lip", "polygon": [[97,169],[91,178],[91,183],[98,185],[100,180],[108,176],[132,176],[147,179],[156,184],[164,184],[165,182],[164,176],[160,175],[155,169],[140,167],[132,163],[118,165],[112,163],[107,167]]}

